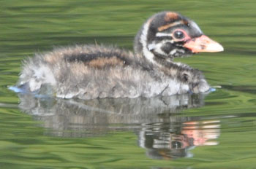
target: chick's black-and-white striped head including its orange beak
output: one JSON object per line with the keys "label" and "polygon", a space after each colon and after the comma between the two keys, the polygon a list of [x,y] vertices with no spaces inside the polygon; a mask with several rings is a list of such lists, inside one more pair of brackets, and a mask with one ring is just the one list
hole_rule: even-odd
{"label": "chick's black-and-white striped head including its orange beak", "polygon": [[223,47],[205,36],[194,21],[176,12],[159,12],[148,18],[135,37],[134,49],[152,63],[197,52],[223,51]]}

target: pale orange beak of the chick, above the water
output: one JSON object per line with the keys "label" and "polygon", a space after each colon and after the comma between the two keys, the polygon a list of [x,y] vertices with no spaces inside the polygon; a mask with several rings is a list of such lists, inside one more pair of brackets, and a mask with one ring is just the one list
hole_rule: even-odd
{"label": "pale orange beak of the chick, above the water", "polygon": [[211,40],[206,35],[191,39],[183,46],[192,52],[222,52],[224,50],[221,44]]}

